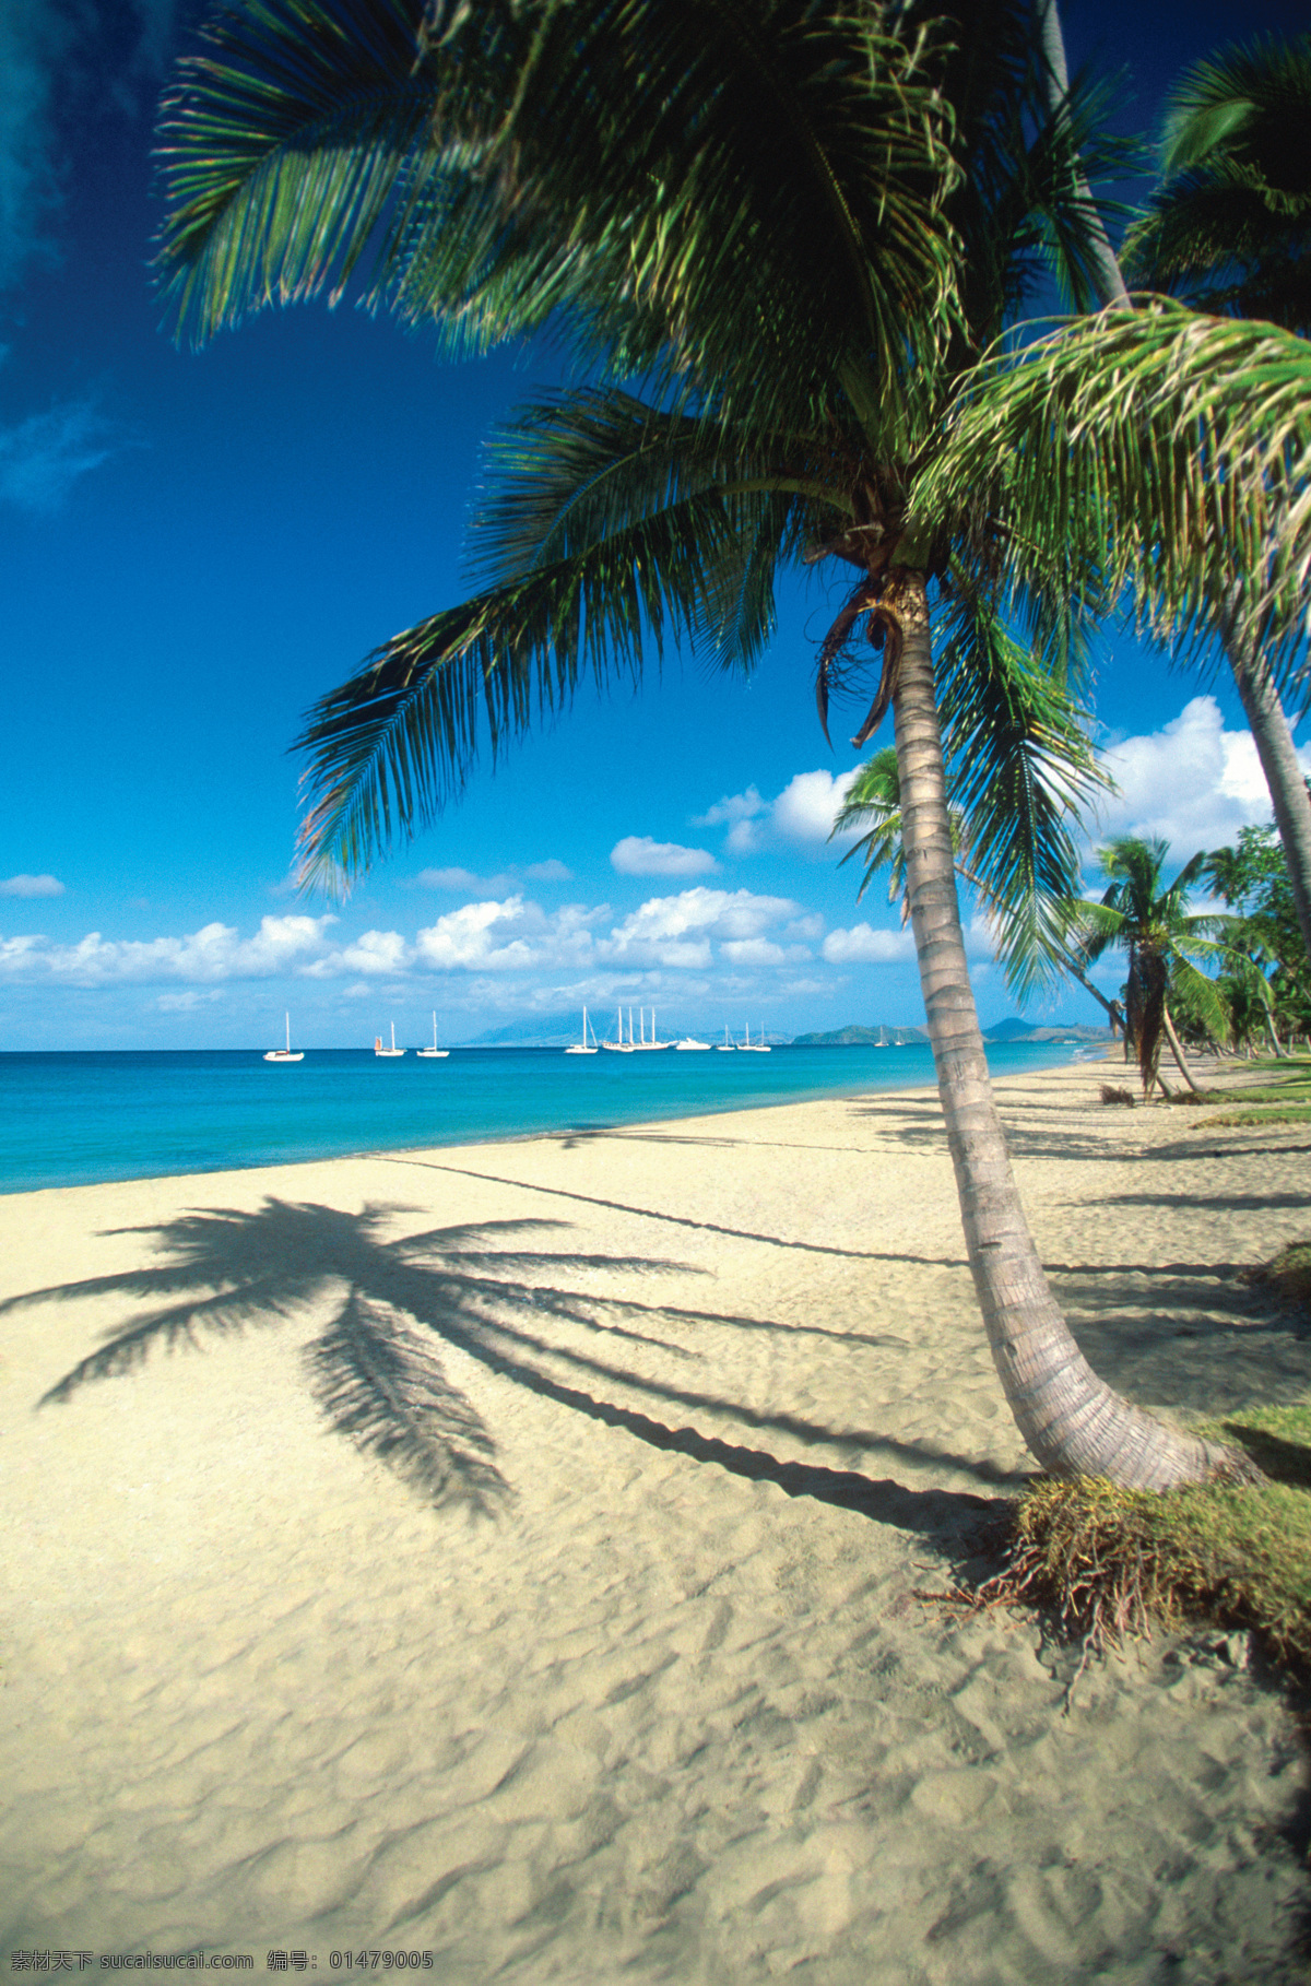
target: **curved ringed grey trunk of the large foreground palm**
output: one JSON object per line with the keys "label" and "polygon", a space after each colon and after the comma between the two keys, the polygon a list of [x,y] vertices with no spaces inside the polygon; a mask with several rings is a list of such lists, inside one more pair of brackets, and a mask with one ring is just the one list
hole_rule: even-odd
{"label": "curved ringed grey trunk of the large foreground palm", "polygon": [[1025,1442],[1055,1476],[1108,1476],[1142,1490],[1196,1482],[1224,1452],[1152,1420],[1092,1372],[1037,1259],[965,967],[924,574],[902,572],[884,602],[904,643],[896,757],[920,983],[969,1267],[1005,1396]]}

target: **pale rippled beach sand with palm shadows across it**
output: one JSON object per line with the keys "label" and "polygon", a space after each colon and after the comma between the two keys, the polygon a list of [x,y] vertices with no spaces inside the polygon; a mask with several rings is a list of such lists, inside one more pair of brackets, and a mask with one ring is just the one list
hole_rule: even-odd
{"label": "pale rippled beach sand with palm shadows across it", "polygon": [[[1100,1076],[999,1086],[1094,1366],[1164,1410],[1305,1392],[1236,1275],[1307,1231],[1307,1128]],[[932,1096],[0,1223],[6,1966],[1305,1978],[1307,1762],[1241,1640],[1092,1664],[1063,1714],[1033,1617],[914,1597],[1027,1472]]]}

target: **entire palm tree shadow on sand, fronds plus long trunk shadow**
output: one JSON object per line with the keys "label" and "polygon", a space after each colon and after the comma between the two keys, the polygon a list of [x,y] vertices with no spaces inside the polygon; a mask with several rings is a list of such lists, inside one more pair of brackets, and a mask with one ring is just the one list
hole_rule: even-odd
{"label": "entire palm tree shadow on sand, fronds plus long trunk shadow", "polygon": [[[642,1374],[608,1350],[661,1352],[695,1366],[699,1350],[679,1343],[685,1327],[789,1331],[826,1339],[806,1325],[733,1317],[608,1297],[568,1287],[604,1269],[654,1275],[687,1265],[657,1257],[584,1255],[544,1245],[566,1227],[552,1219],[503,1219],[431,1227],[387,1239],[397,1206],[360,1213],[266,1200],[256,1211],[211,1207],[159,1227],[111,1229],[159,1237],[157,1265],[79,1283],[26,1291],[0,1303],[20,1307],[95,1295],[129,1295],[149,1307],[79,1360],[40,1406],[68,1402],[85,1384],[137,1370],[155,1350],[199,1347],[207,1335],[268,1329],[340,1291],[334,1315],[306,1347],[314,1396],[336,1434],[395,1470],[437,1505],[463,1503],[491,1513],[510,1495],[497,1446],[473,1402],[451,1382],[443,1348],[465,1352],[532,1392],[588,1420],[624,1428],[659,1450],[675,1450],[735,1476],[769,1480],[789,1495],[864,1511],[904,1529],[947,1535],[989,1509],[983,1497],[947,1490],[908,1490],[850,1470],[781,1460],[691,1426],[669,1426],[659,1410],[727,1414],[793,1442],[842,1444],[890,1458],[942,1460],[995,1484],[987,1466],[924,1444],[866,1430],[834,1430],[795,1414],[763,1414],[743,1402]],[[661,1333],[663,1325],[663,1333]],[[582,1335],[582,1347],[570,1343]],[[862,1337],[862,1345],[898,1345]],[[592,1348],[588,1348],[588,1345]],[[642,1406],[616,1394],[636,1394]],[[644,1412],[650,1406],[652,1412]]]}

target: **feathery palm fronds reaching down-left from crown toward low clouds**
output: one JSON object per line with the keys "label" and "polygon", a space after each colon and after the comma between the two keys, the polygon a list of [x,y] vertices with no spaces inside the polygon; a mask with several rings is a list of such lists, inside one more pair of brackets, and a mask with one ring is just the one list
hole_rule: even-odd
{"label": "feathery palm fronds reaching down-left from crown toward low clouds", "polygon": [[306,882],[350,884],[395,832],[455,798],[578,683],[638,679],[667,641],[749,667],[773,626],[779,548],[816,498],[771,493],[727,443],[620,393],[532,409],[499,443],[503,477],[475,526],[493,584],[379,647],[310,713]]}

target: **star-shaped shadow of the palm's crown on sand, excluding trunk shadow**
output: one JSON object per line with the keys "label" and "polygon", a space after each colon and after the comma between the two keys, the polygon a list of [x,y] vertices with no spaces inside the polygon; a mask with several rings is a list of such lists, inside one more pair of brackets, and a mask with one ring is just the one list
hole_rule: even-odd
{"label": "star-shaped shadow of the palm's crown on sand, excluding trunk shadow", "polygon": [[[383,1223],[401,1211],[407,1209],[369,1206],[352,1215],[268,1200],[256,1213],[217,1207],[157,1229],[111,1229],[157,1233],[167,1259],[28,1291],[2,1303],[0,1313],[60,1297],[181,1299],[115,1331],[50,1388],[46,1406],[70,1400],[93,1380],[139,1368],[157,1348],[195,1348],[205,1333],[234,1337],[284,1323],[334,1283],[344,1285],[336,1315],[306,1348],[310,1384],[330,1426],[435,1503],[487,1511],[509,1495],[509,1484],[495,1464],[491,1432],[447,1378],[433,1335],[483,1362],[505,1364],[510,1348],[546,1350],[512,1321],[512,1313],[530,1309],[586,1331],[679,1350],[626,1325],[624,1303],[528,1281],[542,1271],[596,1265],[646,1273],[675,1265],[532,1247],[532,1235],[566,1225],[546,1219],[451,1225],[387,1241]],[[518,1245],[497,1247],[499,1241]],[[570,1356],[560,1347],[550,1352]]]}

